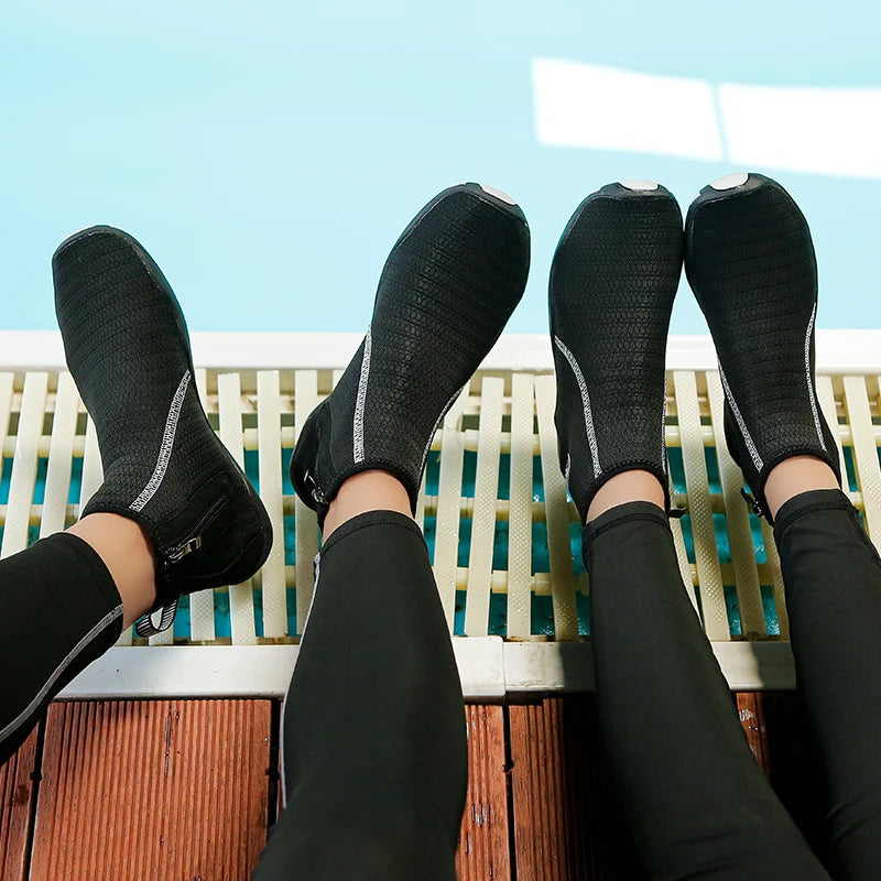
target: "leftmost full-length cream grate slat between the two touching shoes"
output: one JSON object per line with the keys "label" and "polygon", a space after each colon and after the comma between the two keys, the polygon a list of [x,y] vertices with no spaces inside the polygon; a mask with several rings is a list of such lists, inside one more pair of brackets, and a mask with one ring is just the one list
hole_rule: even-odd
{"label": "leftmost full-length cream grate slat between the two touching shoes", "polygon": [[730,640],[716,530],[713,524],[707,463],[704,458],[695,374],[690,370],[674,370],[673,388],[682,436],[682,459],[685,467],[685,488],[688,493],[688,515],[695,546],[704,629],[711,640]]}

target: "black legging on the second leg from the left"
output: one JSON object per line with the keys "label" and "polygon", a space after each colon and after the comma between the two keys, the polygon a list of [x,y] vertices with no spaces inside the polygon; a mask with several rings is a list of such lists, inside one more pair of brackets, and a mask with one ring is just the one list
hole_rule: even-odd
{"label": "black legging on the second leg from the left", "polygon": [[404,514],[360,514],[322,550],[283,748],[286,809],[255,879],[455,879],[461,686],[425,542]]}

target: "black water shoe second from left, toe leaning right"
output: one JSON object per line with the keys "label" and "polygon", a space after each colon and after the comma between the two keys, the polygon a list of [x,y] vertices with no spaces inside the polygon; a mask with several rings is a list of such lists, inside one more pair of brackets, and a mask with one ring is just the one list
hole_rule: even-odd
{"label": "black water shoe second from left, toe leaning right", "polygon": [[304,426],[291,461],[323,515],[346,478],[395,475],[415,509],[427,446],[523,294],[529,228],[477,184],[444,191],[392,249],[365,341]]}

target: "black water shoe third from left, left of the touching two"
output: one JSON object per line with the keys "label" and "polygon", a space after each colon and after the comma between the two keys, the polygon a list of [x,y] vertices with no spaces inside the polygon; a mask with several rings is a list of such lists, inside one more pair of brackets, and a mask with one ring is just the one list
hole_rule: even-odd
{"label": "black water shoe third from left, left of the touching two", "polygon": [[640,468],[667,491],[664,358],[682,214],[663,187],[609,184],[576,209],[548,301],[561,468],[584,521],[597,490]]}

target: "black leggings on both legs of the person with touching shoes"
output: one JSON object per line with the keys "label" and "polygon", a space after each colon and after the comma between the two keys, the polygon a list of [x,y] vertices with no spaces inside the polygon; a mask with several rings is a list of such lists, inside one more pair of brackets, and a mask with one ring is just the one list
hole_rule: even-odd
{"label": "black leggings on both legs of the person with touching shoes", "polygon": [[[881,878],[881,564],[838,490],[777,512],[798,687],[841,879]],[[753,761],[648,502],[585,530],[597,699],[637,848],[653,878],[828,878]]]}

